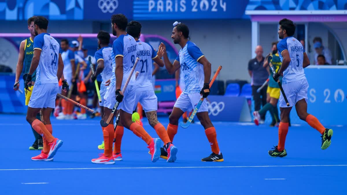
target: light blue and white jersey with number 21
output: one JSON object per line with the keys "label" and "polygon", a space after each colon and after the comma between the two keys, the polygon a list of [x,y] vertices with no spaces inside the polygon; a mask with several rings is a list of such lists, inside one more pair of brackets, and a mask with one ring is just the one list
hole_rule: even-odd
{"label": "light blue and white jersey with number 21", "polygon": [[152,84],[152,60],[158,55],[154,51],[153,47],[145,42],[137,41],[137,52],[136,57],[141,60],[137,63],[136,71],[139,72],[136,84],[136,91],[149,91],[153,90]]}

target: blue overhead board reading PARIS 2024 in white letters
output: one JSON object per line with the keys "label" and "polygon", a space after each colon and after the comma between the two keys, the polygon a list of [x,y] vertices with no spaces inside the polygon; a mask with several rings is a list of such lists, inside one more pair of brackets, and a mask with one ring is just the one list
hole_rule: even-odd
{"label": "blue overhead board reading PARIS 2024 in white letters", "polygon": [[[248,1],[134,0],[135,20],[242,18]],[[237,4],[237,5],[235,5]]]}

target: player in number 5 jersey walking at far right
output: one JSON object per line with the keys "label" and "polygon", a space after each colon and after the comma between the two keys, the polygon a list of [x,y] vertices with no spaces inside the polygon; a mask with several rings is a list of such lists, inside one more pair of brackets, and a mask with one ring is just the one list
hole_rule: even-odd
{"label": "player in number 5 jersey walking at far right", "polygon": [[273,75],[273,79],[277,82],[281,75],[282,88],[287,96],[289,107],[287,107],[283,94],[280,94],[280,111],[281,122],[278,127],[278,145],[268,153],[272,157],[284,157],[287,155],[285,150],[285,141],[289,126],[289,113],[291,108],[295,106],[298,117],[306,121],[311,127],[318,130],[322,134],[321,149],[327,149],[331,144],[332,129],[325,128],[319,120],[307,113],[307,89],[308,82],[305,77],[304,68],[310,65],[304,46],[293,37],[295,33],[295,25],[293,21],[282,19],[279,22],[278,37],[282,39],[277,44],[279,57],[282,65],[278,73]]}

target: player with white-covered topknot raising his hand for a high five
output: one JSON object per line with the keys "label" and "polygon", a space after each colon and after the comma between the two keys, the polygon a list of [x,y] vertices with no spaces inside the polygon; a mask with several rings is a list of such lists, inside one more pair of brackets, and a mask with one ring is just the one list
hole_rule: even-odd
{"label": "player with white-covered topknot raising his hand for a high five", "polygon": [[[189,41],[189,29],[185,24],[175,22],[171,38],[175,44],[181,46],[174,64],[169,61],[166,46],[163,43],[160,44],[159,51],[163,49],[164,64],[169,74],[174,74],[176,70],[181,68],[180,74],[184,74],[185,82],[184,90],[178,97],[174,109],[172,109],[171,115],[169,116],[167,132],[171,142],[173,142],[178,129],[178,119],[185,111],[190,111],[196,107],[201,96],[206,98],[210,94],[211,63],[206,59],[201,50],[193,42]],[[212,150],[210,156],[201,160],[213,162],[224,161],[223,155],[219,150],[216,130],[209,117],[206,101],[202,102],[196,116],[205,129],[205,134]]]}

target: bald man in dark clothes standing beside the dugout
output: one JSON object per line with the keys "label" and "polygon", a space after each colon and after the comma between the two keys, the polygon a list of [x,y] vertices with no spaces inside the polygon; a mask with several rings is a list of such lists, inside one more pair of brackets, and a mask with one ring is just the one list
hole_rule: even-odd
{"label": "bald man in dark clothes standing beside the dugout", "polygon": [[[254,99],[254,111],[260,110],[260,104],[263,106],[266,104],[266,87],[257,93],[257,89],[263,85],[263,83],[268,79],[269,73],[266,68],[263,67],[264,57],[263,57],[263,48],[258,45],[255,48],[256,57],[249,60],[248,62],[248,73],[252,78],[252,96]],[[264,123],[265,115],[260,117],[259,123]]]}

